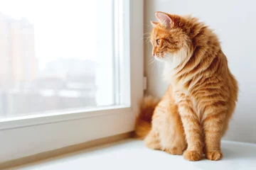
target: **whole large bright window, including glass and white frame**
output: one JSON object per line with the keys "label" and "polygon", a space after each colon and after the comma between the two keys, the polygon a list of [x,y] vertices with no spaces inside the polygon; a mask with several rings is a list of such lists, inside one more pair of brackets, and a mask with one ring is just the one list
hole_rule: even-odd
{"label": "whole large bright window, including glass and white frame", "polygon": [[0,162],[132,131],[142,37],[143,1],[0,1]]}

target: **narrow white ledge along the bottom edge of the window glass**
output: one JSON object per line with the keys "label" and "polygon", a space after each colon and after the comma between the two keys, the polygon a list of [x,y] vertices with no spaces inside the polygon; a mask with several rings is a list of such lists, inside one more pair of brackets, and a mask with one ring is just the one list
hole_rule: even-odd
{"label": "narrow white ledge along the bottom edge of the window glass", "polygon": [[0,120],[0,130],[22,128],[32,125],[43,125],[48,123],[58,123],[69,120],[80,120],[82,118],[93,118],[97,116],[119,113],[120,111],[131,111],[131,109],[132,108],[129,106],[120,105],[85,109],[66,109],[66,111],[49,111],[41,114],[3,118]]}

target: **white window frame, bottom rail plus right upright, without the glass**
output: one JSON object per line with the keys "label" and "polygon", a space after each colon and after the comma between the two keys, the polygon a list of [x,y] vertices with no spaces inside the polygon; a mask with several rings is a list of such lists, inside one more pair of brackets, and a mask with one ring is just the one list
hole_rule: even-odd
{"label": "white window frame, bottom rail plus right upright, without the glass", "polygon": [[[124,0],[124,57],[128,79],[122,79],[126,100],[121,106],[28,115],[0,120],[0,162],[27,157],[134,130],[138,101],[143,97],[143,0]],[[127,85],[128,84],[128,85]],[[123,86],[124,87],[124,86]],[[127,92],[128,91],[128,92]],[[127,100],[129,98],[129,100]]]}

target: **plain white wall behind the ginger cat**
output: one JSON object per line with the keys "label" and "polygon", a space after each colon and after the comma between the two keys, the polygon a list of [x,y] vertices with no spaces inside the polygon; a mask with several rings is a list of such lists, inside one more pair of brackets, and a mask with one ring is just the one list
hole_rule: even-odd
{"label": "plain white wall behind the ginger cat", "polygon": [[[205,21],[219,35],[231,72],[239,81],[239,102],[228,140],[256,143],[256,1],[249,0],[144,0],[144,29],[150,32],[155,11],[193,14]],[[148,93],[161,97],[167,85],[161,79],[161,64],[149,64],[151,45],[145,45],[145,73],[149,79]]]}

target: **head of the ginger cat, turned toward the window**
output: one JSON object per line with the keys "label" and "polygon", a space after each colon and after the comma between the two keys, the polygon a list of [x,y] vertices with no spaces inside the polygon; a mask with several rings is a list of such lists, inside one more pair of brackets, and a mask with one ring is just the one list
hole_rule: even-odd
{"label": "head of the ginger cat, turned toward the window", "polygon": [[163,12],[156,12],[156,18],[158,22],[151,21],[152,55],[164,62],[182,62],[191,49],[191,39],[186,33],[186,18]]}

